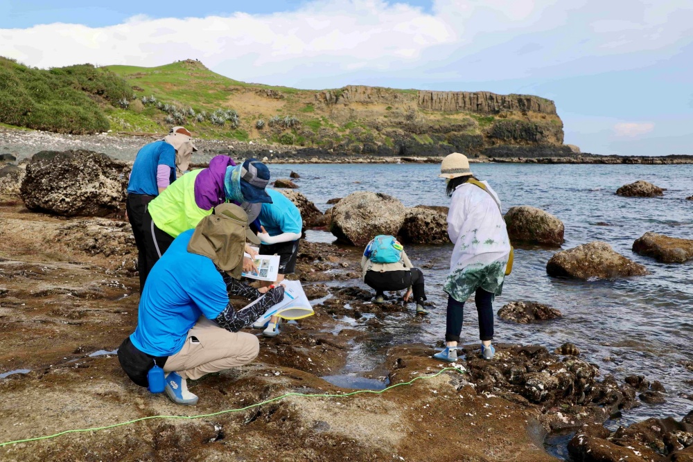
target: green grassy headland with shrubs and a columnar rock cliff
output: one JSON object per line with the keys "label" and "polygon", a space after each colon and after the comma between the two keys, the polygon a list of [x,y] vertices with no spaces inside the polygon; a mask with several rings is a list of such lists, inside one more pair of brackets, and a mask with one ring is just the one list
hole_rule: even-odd
{"label": "green grassy headland with shrubs and a columnar rock cliff", "polygon": [[144,68],[30,69],[0,58],[0,123],[68,133],[166,132],[371,155],[559,147],[563,124],[537,96],[249,84],[186,60]]}

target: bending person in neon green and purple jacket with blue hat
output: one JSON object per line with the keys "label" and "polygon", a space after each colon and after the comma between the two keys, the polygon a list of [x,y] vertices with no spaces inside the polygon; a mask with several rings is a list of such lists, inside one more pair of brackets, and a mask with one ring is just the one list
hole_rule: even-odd
{"label": "bending person in neon green and purple jacket with blue hat", "polygon": [[[247,159],[236,166],[231,157],[219,155],[209,161],[209,167],[193,170],[173,182],[147,206],[143,220],[146,264],[142,281],[164,254],[173,240],[183,231],[193,229],[202,218],[211,215],[213,208],[227,201],[258,203],[272,202],[265,187],[270,181],[270,169],[257,159]],[[253,255],[252,249],[246,249]],[[246,270],[252,269],[248,259]]]}

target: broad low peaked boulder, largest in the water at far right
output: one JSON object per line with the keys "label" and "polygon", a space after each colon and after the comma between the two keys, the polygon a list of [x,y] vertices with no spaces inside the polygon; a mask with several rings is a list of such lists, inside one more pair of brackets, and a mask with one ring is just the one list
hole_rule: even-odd
{"label": "broad low peaked boulder, largest in the water at far right", "polygon": [[560,251],[546,264],[549,276],[582,279],[615,279],[644,276],[647,269],[615,252],[606,242],[589,242]]}

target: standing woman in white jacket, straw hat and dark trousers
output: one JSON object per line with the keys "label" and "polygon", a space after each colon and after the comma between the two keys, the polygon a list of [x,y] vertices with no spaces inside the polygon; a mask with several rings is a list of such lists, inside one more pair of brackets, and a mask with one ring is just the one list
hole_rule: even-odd
{"label": "standing woman in white jacket, straw hat and dark trousers", "polygon": [[482,356],[492,359],[495,354],[491,345],[493,299],[502,292],[510,254],[500,200],[486,181],[479,182],[473,177],[464,154],[448,155],[440,171],[440,177],[447,179],[446,193],[452,197],[448,236],[455,247],[450,259],[450,275],[444,285],[448,294],[446,348],[434,357],[447,362],[457,360],[464,302],[475,294]]}

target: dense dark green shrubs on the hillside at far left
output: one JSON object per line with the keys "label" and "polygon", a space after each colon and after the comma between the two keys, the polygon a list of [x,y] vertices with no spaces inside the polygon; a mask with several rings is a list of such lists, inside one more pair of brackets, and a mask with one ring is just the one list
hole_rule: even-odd
{"label": "dense dark green shrubs on the hillside at far left", "polygon": [[91,64],[32,69],[0,57],[0,122],[59,133],[105,131],[104,105],[129,98],[128,82]]}

